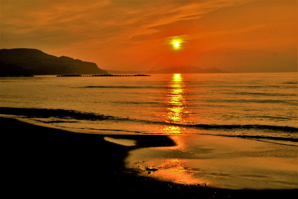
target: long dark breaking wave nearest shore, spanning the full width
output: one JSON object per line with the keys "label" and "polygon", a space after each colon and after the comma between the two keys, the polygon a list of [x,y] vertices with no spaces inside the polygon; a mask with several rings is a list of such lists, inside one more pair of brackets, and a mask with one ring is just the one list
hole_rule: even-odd
{"label": "long dark breaking wave nearest shore, spanning the full width", "polygon": [[[246,125],[237,125],[237,124],[175,124],[168,123],[165,121],[150,121],[150,120],[137,120],[132,118],[119,118],[109,115],[100,115],[95,113],[86,113],[75,110],[64,110],[64,109],[37,109],[37,108],[12,108],[12,107],[0,107],[0,114],[6,115],[22,115],[32,118],[59,118],[59,119],[77,119],[77,120],[91,120],[91,121],[101,121],[101,120],[112,120],[112,121],[131,121],[139,122],[145,124],[156,124],[156,125],[173,125],[186,128],[194,129],[262,129],[262,130],[274,130],[274,131],[283,131],[283,132],[298,132],[297,127],[287,127],[287,126],[272,126],[272,125],[258,125],[258,124],[246,124]],[[50,121],[54,123],[55,121]],[[56,123],[62,121],[57,120]],[[73,121],[70,121],[73,122]]]}

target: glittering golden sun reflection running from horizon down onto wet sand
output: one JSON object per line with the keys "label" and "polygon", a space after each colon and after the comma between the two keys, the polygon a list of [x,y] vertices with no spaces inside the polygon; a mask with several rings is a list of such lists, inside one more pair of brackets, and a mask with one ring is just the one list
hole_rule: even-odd
{"label": "glittering golden sun reflection running from horizon down onto wet sand", "polygon": [[[166,94],[165,104],[167,109],[164,113],[164,120],[169,123],[166,127],[161,129],[165,134],[183,134],[187,133],[184,127],[175,126],[173,124],[190,124],[190,121],[185,119],[186,115],[191,112],[188,109],[188,85],[181,74],[173,74],[171,81],[168,82],[168,92]],[[177,144],[174,147],[168,147],[168,150],[186,152],[187,145],[180,135],[172,135],[171,139]],[[181,158],[166,158],[160,162],[157,161],[159,166],[163,169],[160,171],[161,176],[167,176],[167,179],[175,180],[176,182],[195,182],[197,179],[193,179],[192,175],[188,175],[189,171],[185,169],[185,160]],[[156,162],[156,163],[157,163]],[[202,181],[200,183],[203,183]]]}

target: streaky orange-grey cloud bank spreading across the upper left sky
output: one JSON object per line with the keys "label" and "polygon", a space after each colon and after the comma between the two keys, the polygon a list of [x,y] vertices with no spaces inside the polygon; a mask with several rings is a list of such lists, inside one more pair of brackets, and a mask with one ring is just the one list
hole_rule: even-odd
{"label": "streaky orange-grey cloud bank spreading across the upper left sky", "polygon": [[[88,3],[87,3],[88,2]],[[1,2],[1,26],[14,35],[73,42],[118,42],[159,32],[156,26],[200,18],[243,1],[23,1]],[[7,9],[10,7],[10,9]],[[4,35],[5,36],[5,35]],[[45,38],[46,39],[46,38]]]}

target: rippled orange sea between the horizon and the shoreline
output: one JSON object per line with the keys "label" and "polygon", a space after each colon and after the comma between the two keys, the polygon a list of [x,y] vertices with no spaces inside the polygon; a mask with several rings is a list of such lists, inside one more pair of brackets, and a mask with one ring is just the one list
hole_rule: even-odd
{"label": "rippled orange sea between the horizon and the shoreline", "polygon": [[1,77],[0,116],[100,133],[211,134],[297,146],[297,73]]}

